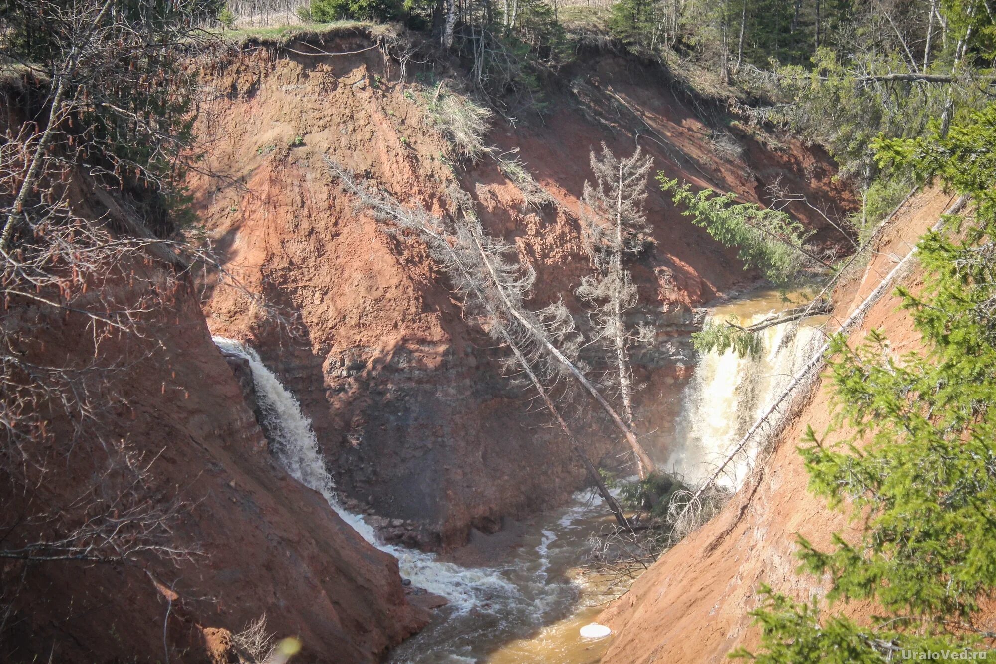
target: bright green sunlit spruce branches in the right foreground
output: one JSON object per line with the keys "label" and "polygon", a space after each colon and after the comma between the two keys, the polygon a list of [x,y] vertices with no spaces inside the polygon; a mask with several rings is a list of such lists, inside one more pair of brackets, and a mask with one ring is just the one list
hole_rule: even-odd
{"label": "bright green sunlit spruce branches in the right foreground", "polygon": [[[871,600],[869,625],[766,590],[753,612],[762,662],[883,661],[897,650],[984,648],[980,602],[996,587],[996,107],[946,136],[876,143],[881,162],[939,178],[968,195],[965,232],[928,233],[918,247],[923,292],[900,291],[925,350],[896,357],[872,331],[832,345],[838,425],[800,448],[810,489],[861,521],[854,541],[821,550],[800,537],[803,569],[830,579],[827,603]],[[957,224],[956,224],[957,225]]]}

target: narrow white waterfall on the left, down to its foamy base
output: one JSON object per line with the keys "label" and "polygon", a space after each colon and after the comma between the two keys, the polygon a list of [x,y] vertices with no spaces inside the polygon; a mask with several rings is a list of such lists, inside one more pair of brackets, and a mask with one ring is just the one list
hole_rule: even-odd
{"label": "narrow white waterfall on the left, down to its foamy base", "polygon": [[213,337],[213,340],[226,353],[249,361],[260,410],[277,461],[295,480],[322,494],[329,501],[329,506],[360,536],[397,558],[401,576],[411,579],[417,587],[445,597],[453,608],[463,612],[482,604],[486,606],[486,600],[496,595],[514,597],[519,594],[519,589],[498,570],[461,567],[437,560],[430,553],[380,542],[373,526],[361,514],[352,513],[340,504],[311,421],[301,412],[301,404],[294,395],[263,364],[255,350],[224,337]]}

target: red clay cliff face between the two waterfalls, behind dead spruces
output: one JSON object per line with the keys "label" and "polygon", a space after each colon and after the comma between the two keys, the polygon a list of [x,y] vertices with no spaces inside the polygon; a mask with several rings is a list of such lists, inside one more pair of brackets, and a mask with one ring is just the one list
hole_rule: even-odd
{"label": "red clay cliff face between the two waterfalls, behind dead spruces", "polygon": [[[321,48],[369,46],[354,35]],[[487,137],[499,151],[519,149],[559,202],[529,210],[492,159],[455,168],[440,159],[448,148],[421,97],[432,89],[416,84],[438,72],[409,67],[402,85],[396,64],[385,67],[376,49],[302,56],[294,51],[307,47],[291,48],[257,44],[205,67],[218,97],[198,132],[210,151],[204,166],[222,177],[196,175],[191,187],[227,269],[280,307],[293,329],[257,318],[223,292],[211,296],[209,325],[259,350],[313,419],[338,487],[361,508],[412,519],[410,532],[397,533],[408,543],[462,544],[472,527],[490,531],[504,516],[563,502],[584,474],[500,376],[500,351],[460,319],[420,243],[388,236],[356,210],[327,158],[435,210],[460,186],[487,229],[535,265],[534,302],[563,296],[578,313],[571,291],[591,269],[578,196],[600,142],[622,155],[638,144],[671,176],[755,199],[780,175],[820,200],[841,194],[828,160],[795,145],[772,152],[734,131],[740,151],[719,156],[713,129],[670,91],[663,72],[599,56],[565,72],[570,85],[550,87],[542,124],[496,122]],[[686,379],[691,307],[753,275],[650,188],[657,244],[632,271],[639,315],[655,326],[657,343],[636,373],[647,386],[639,416],[656,430],[649,443],[662,447]],[[589,439],[597,460],[615,463],[614,441]]]}

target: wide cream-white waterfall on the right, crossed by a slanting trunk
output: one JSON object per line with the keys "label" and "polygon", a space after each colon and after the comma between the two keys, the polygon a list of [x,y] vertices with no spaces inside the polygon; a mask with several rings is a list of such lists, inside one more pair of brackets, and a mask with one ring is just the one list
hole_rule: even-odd
{"label": "wide cream-white waterfall on the right, crossed by a slanting trunk", "polygon": [[[751,325],[778,310],[776,303],[770,293],[750,298],[717,307],[708,321],[722,324],[732,319],[741,326]],[[700,359],[685,387],[675,423],[675,444],[665,467],[692,486],[705,482],[723,463],[809,359],[820,339],[815,327],[794,322],[769,327],[761,334],[761,357],[738,357],[732,348],[722,354],[712,351]],[[756,443],[744,450],[717,483],[730,491],[739,489],[757,452]]]}

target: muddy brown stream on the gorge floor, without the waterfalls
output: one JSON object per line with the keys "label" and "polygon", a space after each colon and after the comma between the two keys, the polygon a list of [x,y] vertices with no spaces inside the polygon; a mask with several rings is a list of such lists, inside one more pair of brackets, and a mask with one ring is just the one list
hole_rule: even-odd
{"label": "muddy brown stream on the gorge floor, without the waterfalls", "polygon": [[[612,636],[586,639],[624,586],[584,574],[589,538],[613,523],[601,498],[585,492],[573,504],[540,514],[520,528],[512,545],[496,545],[488,567],[508,581],[470,609],[440,609],[433,621],[392,654],[394,664],[593,664]],[[488,542],[480,544],[487,548]]]}

